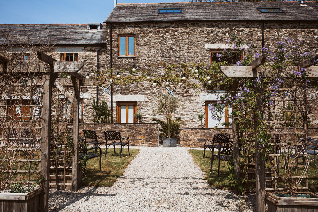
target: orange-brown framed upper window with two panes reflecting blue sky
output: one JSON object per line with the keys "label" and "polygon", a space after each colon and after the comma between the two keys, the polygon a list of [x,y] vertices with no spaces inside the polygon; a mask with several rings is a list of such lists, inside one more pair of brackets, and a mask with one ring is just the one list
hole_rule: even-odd
{"label": "orange-brown framed upper window with two panes reflecting blue sky", "polygon": [[121,35],[118,37],[119,56],[135,56],[135,36]]}

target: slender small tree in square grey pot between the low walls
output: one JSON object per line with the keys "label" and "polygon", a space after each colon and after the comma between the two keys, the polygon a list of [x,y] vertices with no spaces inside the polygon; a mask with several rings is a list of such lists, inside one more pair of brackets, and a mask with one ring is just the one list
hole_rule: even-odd
{"label": "slender small tree in square grey pot between the low walls", "polygon": [[166,94],[163,94],[162,97],[159,97],[157,107],[156,109],[153,110],[154,114],[163,115],[167,119],[168,133],[166,134],[166,136],[168,136],[168,138],[162,138],[163,147],[176,147],[177,138],[170,137],[171,136],[170,123],[171,123],[173,114],[176,113],[178,104],[179,104],[179,101],[176,97],[169,96],[169,94],[166,93]]}

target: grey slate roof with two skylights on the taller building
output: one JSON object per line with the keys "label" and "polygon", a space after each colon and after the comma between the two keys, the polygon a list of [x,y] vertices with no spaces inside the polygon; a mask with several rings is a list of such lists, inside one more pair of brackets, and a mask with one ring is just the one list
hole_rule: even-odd
{"label": "grey slate roof with two skylights on the taller building", "polygon": [[[104,23],[200,20],[318,21],[318,4],[305,2],[210,2],[117,4]],[[285,13],[260,13],[256,8],[281,8]],[[182,14],[158,14],[159,8],[181,8]]]}

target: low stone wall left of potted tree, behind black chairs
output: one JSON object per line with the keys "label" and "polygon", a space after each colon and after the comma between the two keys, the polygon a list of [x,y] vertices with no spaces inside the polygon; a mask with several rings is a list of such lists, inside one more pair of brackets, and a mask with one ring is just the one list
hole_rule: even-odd
{"label": "low stone wall left of potted tree, behind black chairs", "polygon": [[[122,137],[129,136],[129,143],[133,146],[158,146],[157,123],[81,123],[79,132],[83,129],[96,131],[97,136],[104,136],[104,131],[120,131]],[[104,139],[104,138],[102,138]]]}

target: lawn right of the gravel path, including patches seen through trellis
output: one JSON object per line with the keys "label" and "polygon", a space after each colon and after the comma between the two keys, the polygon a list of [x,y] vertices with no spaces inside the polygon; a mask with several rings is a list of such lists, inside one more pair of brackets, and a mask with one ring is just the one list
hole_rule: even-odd
{"label": "lawn right of the gravel path, including patches seen through trellis", "polygon": [[[203,150],[189,150],[190,154],[193,157],[194,162],[201,168],[201,170],[205,173],[205,180],[207,183],[215,188],[219,189],[230,189],[229,181],[228,181],[228,174],[226,172],[227,161],[220,162],[220,176],[218,177],[218,159],[214,157],[213,161],[213,170],[210,173],[210,166],[211,166],[211,151],[205,151],[205,158],[203,159]],[[214,154],[218,154],[216,151]],[[311,155],[310,155],[311,156]],[[299,165],[303,164],[302,159],[298,161]],[[283,174],[284,170],[280,170]],[[301,172],[301,169],[298,171]],[[303,181],[305,182],[305,181]],[[283,186],[280,182],[278,186]],[[304,184],[302,186],[305,187]],[[312,160],[312,156],[310,157],[310,165],[308,168],[308,188],[311,192],[318,192],[318,171],[315,169],[315,164]]]}

